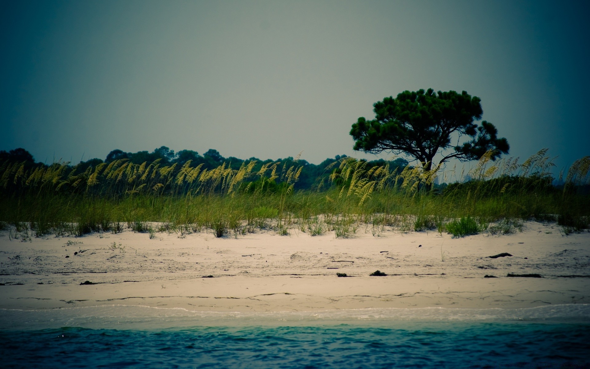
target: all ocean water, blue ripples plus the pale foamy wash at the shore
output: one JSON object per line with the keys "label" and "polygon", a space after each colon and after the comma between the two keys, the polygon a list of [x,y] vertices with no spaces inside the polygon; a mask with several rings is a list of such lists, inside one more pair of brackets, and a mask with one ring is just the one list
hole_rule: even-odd
{"label": "all ocean water, blue ripples plus the pale foamy wash at the shore", "polygon": [[590,305],[0,309],[2,368],[588,368]]}

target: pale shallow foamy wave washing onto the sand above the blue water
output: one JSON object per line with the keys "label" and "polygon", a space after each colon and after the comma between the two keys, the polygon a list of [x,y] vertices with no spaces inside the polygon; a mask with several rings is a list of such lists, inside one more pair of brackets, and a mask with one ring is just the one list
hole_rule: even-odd
{"label": "pale shallow foamy wave washing onto the sand above the blue water", "polygon": [[64,326],[92,329],[166,329],[189,326],[384,325],[388,322],[558,322],[590,323],[590,304],[520,309],[368,308],[309,312],[201,312],[183,308],[107,305],[80,308],[0,309],[0,329]]}

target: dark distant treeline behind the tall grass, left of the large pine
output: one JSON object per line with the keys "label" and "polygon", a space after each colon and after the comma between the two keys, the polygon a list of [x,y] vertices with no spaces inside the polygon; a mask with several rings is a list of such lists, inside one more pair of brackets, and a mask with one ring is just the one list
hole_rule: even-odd
{"label": "dark distant treeline behind the tall grass, left of the large pine", "polygon": [[[124,159],[124,161],[128,161],[130,164],[135,165],[142,165],[145,164],[150,165],[153,162],[158,161],[158,164],[161,166],[173,166],[172,177],[175,177],[183,166],[186,168],[197,168],[199,165],[201,166],[201,171],[207,169],[211,171],[212,169],[219,168],[225,164],[225,168],[234,169],[235,171],[239,170],[243,165],[248,165],[251,162],[255,162],[253,168],[251,168],[251,172],[260,172],[260,170],[264,166],[270,166],[274,163],[280,163],[281,168],[285,166],[289,168],[290,166],[296,164],[297,167],[301,167],[301,172],[299,175],[298,181],[294,184],[294,188],[296,190],[310,190],[312,188],[317,188],[317,186],[325,185],[327,182],[327,177],[330,175],[330,171],[326,170],[330,165],[333,165],[335,162],[340,161],[343,158],[346,158],[346,155],[336,155],[334,158],[327,158],[320,164],[312,164],[304,159],[297,160],[294,163],[294,158],[292,156],[288,156],[287,158],[278,158],[278,159],[258,159],[258,158],[249,158],[249,159],[240,159],[234,156],[228,156],[225,158],[215,149],[209,149],[204,154],[199,154],[193,150],[181,150],[178,152],[174,152],[173,150],[169,149],[166,146],[160,146],[160,148],[154,149],[152,152],[149,151],[138,151],[138,152],[124,152],[120,149],[113,150],[109,152],[106,158],[93,158],[87,161],[80,161],[78,164],[68,163],[67,170],[68,172],[65,173],[70,177],[75,177],[77,175],[84,174],[88,172],[89,169],[97,168],[97,166],[106,163],[112,164],[114,161],[119,161]],[[24,164],[23,169],[24,171],[31,172],[34,170],[34,167],[38,166],[45,166],[48,167],[49,165],[43,164],[41,162],[35,162],[34,157],[23,148],[14,149],[11,151],[0,151],[0,165],[4,165],[7,163],[21,163]],[[186,165],[189,163],[188,165]],[[383,166],[386,164],[386,161],[383,159],[367,161],[366,167],[378,167]],[[389,169],[394,171],[397,169],[397,172],[401,172],[408,165],[408,161],[402,158],[395,159],[395,161],[389,162]],[[91,171],[91,170],[90,170]],[[277,183],[280,183],[281,178],[278,177],[275,180]],[[314,187],[315,186],[315,187]]]}

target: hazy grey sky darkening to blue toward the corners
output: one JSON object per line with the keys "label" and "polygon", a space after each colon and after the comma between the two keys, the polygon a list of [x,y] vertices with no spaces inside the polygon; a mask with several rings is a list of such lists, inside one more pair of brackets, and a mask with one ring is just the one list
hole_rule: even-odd
{"label": "hazy grey sky darkening to blue toward the corners", "polygon": [[319,164],[404,90],[466,90],[558,167],[590,155],[586,1],[1,1],[0,150],[165,145]]}

